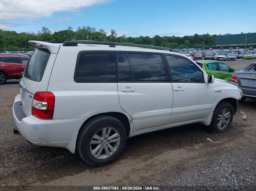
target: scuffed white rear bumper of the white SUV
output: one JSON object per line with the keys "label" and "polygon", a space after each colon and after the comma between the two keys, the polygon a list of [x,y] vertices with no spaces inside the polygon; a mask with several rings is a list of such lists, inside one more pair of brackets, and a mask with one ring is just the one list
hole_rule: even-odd
{"label": "scuffed white rear bumper of the white SUV", "polygon": [[[20,95],[15,97],[15,103],[17,100],[20,100]],[[13,118],[16,124],[14,130],[16,133],[18,131],[25,139],[35,145],[65,148],[70,143],[73,135],[77,135],[80,127],[87,119],[79,117],[43,120],[32,115],[24,116],[20,119],[17,115],[17,111],[15,111],[17,110],[17,108],[14,107],[15,103],[12,107]],[[69,145],[68,150],[73,153],[75,151],[75,144],[72,146]]]}

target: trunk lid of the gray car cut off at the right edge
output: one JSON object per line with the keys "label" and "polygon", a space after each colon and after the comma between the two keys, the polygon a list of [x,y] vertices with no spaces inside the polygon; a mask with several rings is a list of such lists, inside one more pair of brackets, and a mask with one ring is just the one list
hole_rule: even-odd
{"label": "trunk lid of the gray car cut off at the right edge", "polygon": [[241,87],[256,88],[256,72],[239,72],[237,77],[239,77],[238,82]]}

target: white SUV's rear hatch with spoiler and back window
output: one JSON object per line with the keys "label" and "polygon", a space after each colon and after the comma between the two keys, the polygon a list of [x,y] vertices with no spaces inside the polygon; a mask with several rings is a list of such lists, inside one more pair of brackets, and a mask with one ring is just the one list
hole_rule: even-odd
{"label": "white SUV's rear hatch with spoiler and back window", "polygon": [[29,41],[36,49],[30,57],[20,81],[22,110],[31,115],[32,98],[35,92],[47,91],[52,67],[60,45],[40,41]]}

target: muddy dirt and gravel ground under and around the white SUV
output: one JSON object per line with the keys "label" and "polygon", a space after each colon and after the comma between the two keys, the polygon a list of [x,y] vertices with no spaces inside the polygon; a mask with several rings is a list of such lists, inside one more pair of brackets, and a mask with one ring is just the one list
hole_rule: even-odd
{"label": "muddy dirt and gravel ground under and around the white SUV", "polygon": [[[227,63],[240,70],[251,62],[240,59]],[[128,139],[117,161],[91,167],[65,148],[32,145],[14,135],[12,104],[17,94],[17,80],[0,86],[0,190],[6,185],[155,185],[171,186],[171,190],[177,186],[219,190],[223,186],[227,190],[256,190],[255,100],[241,104],[224,133],[212,133],[205,126],[193,124],[139,135]],[[240,110],[247,114],[247,120],[242,119]]]}

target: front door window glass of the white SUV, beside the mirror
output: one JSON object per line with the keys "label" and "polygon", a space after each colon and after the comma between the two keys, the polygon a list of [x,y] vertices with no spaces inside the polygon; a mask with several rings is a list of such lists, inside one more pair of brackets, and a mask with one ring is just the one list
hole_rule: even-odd
{"label": "front door window glass of the white SUV, beside the mirror", "polygon": [[167,56],[174,82],[204,82],[203,72],[187,59],[178,56]]}

